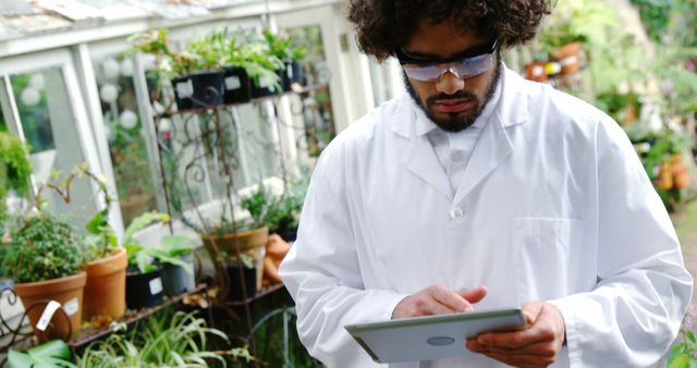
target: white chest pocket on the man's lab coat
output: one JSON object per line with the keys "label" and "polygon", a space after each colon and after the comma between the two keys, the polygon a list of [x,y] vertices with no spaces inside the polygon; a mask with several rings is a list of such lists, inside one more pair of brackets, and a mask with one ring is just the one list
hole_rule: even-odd
{"label": "white chest pocket on the man's lab coat", "polygon": [[584,223],[568,218],[513,221],[518,302],[549,300],[571,293],[577,282]]}

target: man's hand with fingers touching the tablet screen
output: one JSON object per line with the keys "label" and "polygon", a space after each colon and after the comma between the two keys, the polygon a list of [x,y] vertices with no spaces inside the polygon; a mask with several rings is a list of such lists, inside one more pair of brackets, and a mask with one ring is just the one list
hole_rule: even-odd
{"label": "man's hand with fingers touching the tablet screen", "polygon": [[486,286],[453,292],[442,285],[430,285],[402,299],[392,311],[392,319],[474,310],[473,304],[487,295]]}

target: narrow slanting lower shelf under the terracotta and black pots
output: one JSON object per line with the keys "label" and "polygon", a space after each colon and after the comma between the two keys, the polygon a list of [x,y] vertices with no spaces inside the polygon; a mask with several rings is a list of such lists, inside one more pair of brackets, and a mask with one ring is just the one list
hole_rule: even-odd
{"label": "narrow slanting lower shelf under the terracotta and black pots", "polygon": [[[182,302],[185,297],[187,296],[192,296],[192,295],[196,295],[196,294],[204,294],[204,297],[206,299],[208,299],[208,286],[200,284],[198,285],[194,291],[188,292],[188,293],[183,293],[183,294],[179,294],[175,296],[171,296],[171,297],[166,297],[164,302],[158,306],[155,306],[152,308],[143,308],[143,309],[138,309],[138,310],[126,310],[126,314],[114,320],[115,322],[119,323],[124,323],[124,324],[131,324],[133,322],[136,322],[138,320],[142,320],[146,317],[149,317],[171,305],[178,304],[180,302]],[[80,333],[77,335],[76,339],[71,340],[68,342],[68,345],[73,349],[77,349],[80,347],[85,346],[86,344],[96,341],[100,338],[103,338],[106,335],[109,335],[111,333],[113,333],[114,331],[111,330],[111,328],[109,326],[102,327],[102,328],[87,328],[87,329],[81,329]]]}

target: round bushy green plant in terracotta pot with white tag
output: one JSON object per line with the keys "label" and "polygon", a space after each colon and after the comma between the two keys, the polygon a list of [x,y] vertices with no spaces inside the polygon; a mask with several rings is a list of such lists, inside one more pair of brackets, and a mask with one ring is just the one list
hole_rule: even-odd
{"label": "round bushy green plant in terracotta pot with white tag", "polygon": [[[38,195],[37,195],[38,197]],[[40,207],[39,207],[40,208]],[[36,208],[11,232],[5,267],[14,279],[36,335],[44,339],[77,336],[86,273],[80,240],[62,219]],[[46,300],[56,300],[69,317],[53,318],[45,331],[37,329]]]}

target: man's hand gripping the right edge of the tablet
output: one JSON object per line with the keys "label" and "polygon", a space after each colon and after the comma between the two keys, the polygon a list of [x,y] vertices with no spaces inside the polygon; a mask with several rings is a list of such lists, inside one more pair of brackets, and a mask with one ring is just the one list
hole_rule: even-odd
{"label": "man's hand gripping the right edge of the tablet", "polygon": [[562,314],[545,302],[528,302],[523,312],[530,327],[516,332],[489,332],[467,340],[467,348],[521,368],[547,367],[557,360],[566,329]]}

